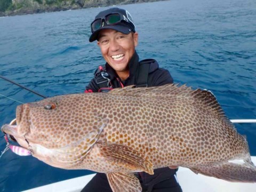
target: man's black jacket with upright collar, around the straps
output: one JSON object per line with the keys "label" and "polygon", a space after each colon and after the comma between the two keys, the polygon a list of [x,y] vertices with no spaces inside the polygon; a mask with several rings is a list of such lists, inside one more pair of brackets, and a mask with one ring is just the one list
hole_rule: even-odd
{"label": "man's black jacket with upright collar, around the straps", "polygon": [[[128,86],[128,85],[136,85],[137,84],[137,76],[139,71],[139,56],[135,52],[129,62],[129,71],[130,75],[125,81],[121,81],[115,70],[111,68],[111,66],[106,63],[106,72],[109,74],[109,79],[113,88]],[[98,92],[101,88],[99,84],[97,84],[96,75],[99,73],[99,69],[95,71],[95,76],[86,86],[85,92]],[[150,64],[149,74],[148,74],[148,87],[150,86],[161,86],[165,84],[173,83],[173,79],[168,70],[158,68],[158,63],[155,61]]]}

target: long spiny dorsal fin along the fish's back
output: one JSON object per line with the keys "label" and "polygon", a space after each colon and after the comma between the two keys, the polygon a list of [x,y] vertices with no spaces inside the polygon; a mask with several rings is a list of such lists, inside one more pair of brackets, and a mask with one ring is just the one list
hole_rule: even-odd
{"label": "long spiny dorsal fin along the fish's back", "polygon": [[186,85],[178,86],[178,84],[134,88],[135,86],[131,85],[120,89],[114,89],[110,91],[109,94],[129,97],[150,97],[164,100],[179,99],[181,101],[189,102],[192,105],[204,108],[207,111],[211,111],[217,117],[234,127],[234,125],[226,117],[217,99],[210,91],[201,89],[192,90],[191,87]]}

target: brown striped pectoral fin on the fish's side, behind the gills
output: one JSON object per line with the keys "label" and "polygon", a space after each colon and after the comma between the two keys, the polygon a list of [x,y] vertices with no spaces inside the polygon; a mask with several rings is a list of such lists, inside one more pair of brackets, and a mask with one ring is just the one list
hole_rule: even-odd
{"label": "brown striped pectoral fin on the fish's side, behind the gills", "polygon": [[149,159],[132,147],[113,143],[99,143],[97,147],[99,147],[101,155],[108,159],[108,161],[124,166],[131,170],[131,172],[144,171],[154,174],[153,164]]}

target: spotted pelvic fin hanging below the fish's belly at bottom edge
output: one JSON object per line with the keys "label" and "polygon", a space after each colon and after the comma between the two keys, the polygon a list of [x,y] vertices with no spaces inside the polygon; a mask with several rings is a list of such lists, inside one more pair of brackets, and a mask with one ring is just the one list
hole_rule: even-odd
{"label": "spotted pelvic fin hanging below the fish's belly at bottom edge", "polygon": [[113,192],[141,192],[140,181],[130,173],[108,173],[108,182]]}

